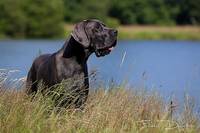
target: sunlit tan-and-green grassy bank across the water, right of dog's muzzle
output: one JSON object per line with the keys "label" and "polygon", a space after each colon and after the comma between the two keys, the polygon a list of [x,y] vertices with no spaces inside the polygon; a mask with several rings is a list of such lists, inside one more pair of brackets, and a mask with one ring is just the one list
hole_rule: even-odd
{"label": "sunlit tan-and-green grassy bank across the water, right of dog's muzzle", "polygon": [[200,40],[198,26],[121,26],[120,39]]}

